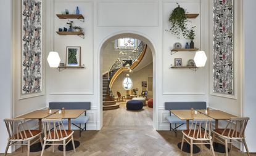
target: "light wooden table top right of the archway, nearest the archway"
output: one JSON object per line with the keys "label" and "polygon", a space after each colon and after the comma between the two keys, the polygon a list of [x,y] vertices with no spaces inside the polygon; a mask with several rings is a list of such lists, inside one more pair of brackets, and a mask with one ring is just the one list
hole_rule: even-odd
{"label": "light wooden table top right of the archway, nearest the archway", "polygon": [[171,110],[171,113],[176,115],[181,120],[193,120],[194,118],[210,119],[209,116],[202,114],[198,111],[197,114],[195,114],[195,112],[191,114],[190,109]]}

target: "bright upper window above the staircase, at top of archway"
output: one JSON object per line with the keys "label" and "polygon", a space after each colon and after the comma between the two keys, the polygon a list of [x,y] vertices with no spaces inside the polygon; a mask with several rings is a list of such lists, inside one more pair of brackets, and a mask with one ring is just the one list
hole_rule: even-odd
{"label": "bright upper window above the staircase, at top of archway", "polygon": [[139,45],[138,39],[133,38],[122,38],[115,40],[115,49],[126,49],[126,50],[133,50]]}

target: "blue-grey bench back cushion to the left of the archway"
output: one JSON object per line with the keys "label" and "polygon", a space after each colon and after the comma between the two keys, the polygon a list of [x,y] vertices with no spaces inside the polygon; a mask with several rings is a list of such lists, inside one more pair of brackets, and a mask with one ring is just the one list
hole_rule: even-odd
{"label": "blue-grey bench back cushion to the left of the archway", "polygon": [[91,109],[91,102],[50,102],[50,109]]}

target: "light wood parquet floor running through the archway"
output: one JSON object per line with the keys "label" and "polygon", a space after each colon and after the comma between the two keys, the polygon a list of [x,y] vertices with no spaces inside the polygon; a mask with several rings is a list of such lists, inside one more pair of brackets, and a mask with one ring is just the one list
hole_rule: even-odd
{"label": "light wood parquet floor running through the archway", "polygon": [[[181,152],[176,146],[181,141],[181,131],[178,137],[171,131],[155,131],[152,128],[152,108],[144,107],[142,111],[127,111],[125,103],[121,104],[119,109],[104,111],[104,122],[101,131],[84,131],[81,138],[78,131],[75,131],[74,138],[81,142],[76,148],[76,153],[68,151],[67,155],[89,155],[89,156],[108,156],[108,155],[189,155]],[[215,152],[215,154],[219,154]],[[17,150],[12,156],[27,155],[27,152],[20,153]],[[40,152],[30,153],[30,155],[40,155]],[[46,156],[63,155],[57,150],[52,153],[51,147],[44,152]],[[211,155],[210,150],[206,147],[199,154],[194,155]],[[233,156],[246,155],[238,152],[233,148]],[[255,156],[256,154],[252,154]]]}

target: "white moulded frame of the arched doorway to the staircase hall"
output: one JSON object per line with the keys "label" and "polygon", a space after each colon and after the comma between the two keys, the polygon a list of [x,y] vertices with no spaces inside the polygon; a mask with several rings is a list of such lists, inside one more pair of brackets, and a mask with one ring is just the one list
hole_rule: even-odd
{"label": "white moulded frame of the arched doorway to the staircase hall", "polygon": [[[156,59],[156,53],[155,53],[155,46],[152,44],[152,41],[149,39],[149,37],[146,37],[146,35],[144,34],[140,34],[140,33],[130,33],[130,32],[125,32],[125,33],[117,33],[117,34],[112,34],[111,36],[109,37],[106,37],[104,39],[104,41],[102,41],[102,44],[100,46],[100,49],[99,49],[99,72],[98,73],[101,73],[102,71],[102,53],[104,52],[104,48],[107,46],[107,44],[111,41],[114,41],[115,39],[120,39],[120,38],[124,38],[124,37],[132,37],[132,38],[136,38],[136,39],[139,39],[140,41],[144,42],[145,44],[147,44],[147,46],[149,47],[149,49],[151,49],[151,52],[152,52],[152,58],[153,58],[153,103],[154,103],[154,107],[153,107],[153,127],[155,129],[158,129],[159,125],[158,125],[158,106],[156,104],[156,101],[157,101],[157,90],[156,90],[156,87],[155,87],[155,84],[157,82],[157,76],[156,76],[156,72],[155,72],[155,69],[156,69],[156,64],[157,64],[157,59]],[[102,122],[103,122],[103,111],[102,111],[102,73],[99,74],[99,109],[98,109],[98,123],[97,123],[97,129],[100,130],[101,127],[102,127]]]}

